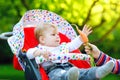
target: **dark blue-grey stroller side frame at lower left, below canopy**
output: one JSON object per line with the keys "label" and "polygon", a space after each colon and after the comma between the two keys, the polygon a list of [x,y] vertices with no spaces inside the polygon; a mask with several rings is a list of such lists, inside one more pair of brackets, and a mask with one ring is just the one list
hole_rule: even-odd
{"label": "dark blue-grey stroller side frame at lower left, below canopy", "polygon": [[26,54],[21,50],[19,51],[18,57],[24,66],[26,80],[42,80],[35,59],[28,59]]}

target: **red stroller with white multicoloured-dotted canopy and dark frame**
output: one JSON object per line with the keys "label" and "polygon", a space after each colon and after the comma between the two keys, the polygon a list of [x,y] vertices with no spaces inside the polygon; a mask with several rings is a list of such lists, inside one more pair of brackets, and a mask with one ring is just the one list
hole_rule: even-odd
{"label": "red stroller with white multicoloured-dotted canopy and dark frame", "polygon": [[[14,53],[14,68],[23,70],[26,80],[49,80],[44,68],[42,66],[38,67],[35,59],[28,59],[25,54],[29,48],[38,45],[38,41],[34,36],[34,28],[40,22],[47,22],[57,26],[61,42],[70,42],[77,36],[72,26],[59,15],[41,9],[27,11],[14,26],[13,35],[8,38],[8,44]],[[80,53],[78,49],[73,52]],[[91,67],[89,61],[84,59],[74,59],[69,60],[69,62],[78,68]]]}

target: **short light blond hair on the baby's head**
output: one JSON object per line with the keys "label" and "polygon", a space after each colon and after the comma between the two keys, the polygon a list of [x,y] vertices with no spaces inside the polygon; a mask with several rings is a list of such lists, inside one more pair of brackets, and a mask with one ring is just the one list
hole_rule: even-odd
{"label": "short light blond hair on the baby's head", "polygon": [[41,24],[36,25],[36,28],[34,30],[36,39],[39,41],[39,37],[43,36],[45,34],[44,32],[50,27],[53,27],[55,28],[55,30],[57,30],[57,27],[50,23],[41,23]]}

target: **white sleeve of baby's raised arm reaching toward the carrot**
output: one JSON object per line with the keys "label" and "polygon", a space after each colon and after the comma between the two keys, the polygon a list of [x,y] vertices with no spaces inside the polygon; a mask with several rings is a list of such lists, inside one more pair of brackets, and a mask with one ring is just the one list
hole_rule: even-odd
{"label": "white sleeve of baby's raised arm reaching toward the carrot", "polygon": [[80,36],[77,36],[74,40],[72,40],[71,42],[69,42],[67,44],[69,51],[73,51],[75,49],[78,49],[81,45],[83,44]]}

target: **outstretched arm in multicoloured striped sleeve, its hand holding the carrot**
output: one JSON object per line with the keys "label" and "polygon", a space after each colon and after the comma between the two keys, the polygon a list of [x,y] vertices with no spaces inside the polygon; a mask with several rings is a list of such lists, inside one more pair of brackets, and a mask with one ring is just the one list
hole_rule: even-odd
{"label": "outstretched arm in multicoloured striped sleeve, its hand holding the carrot", "polygon": [[109,55],[103,53],[100,51],[95,45],[89,44],[89,46],[92,48],[90,49],[89,47],[85,46],[85,51],[87,54],[92,54],[93,57],[95,58],[95,63],[97,66],[101,66],[105,64],[106,62],[113,60],[114,61],[114,68],[112,70],[112,73],[114,74],[120,74],[120,59],[115,59],[110,57]]}

